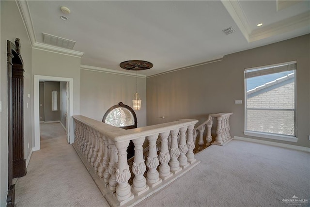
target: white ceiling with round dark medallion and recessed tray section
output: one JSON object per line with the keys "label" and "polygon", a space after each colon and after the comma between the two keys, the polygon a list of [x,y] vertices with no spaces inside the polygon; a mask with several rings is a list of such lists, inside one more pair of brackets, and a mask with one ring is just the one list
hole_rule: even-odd
{"label": "white ceiling with round dark medallion and recessed tray section", "polygon": [[[154,67],[139,74],[147,77],[310,33],[308,0],[42,0],[17,5],[26,21],[30,14],[26,25],[32,44],[43,43],[42,32],[73,40],[73,50],[84,52],[82,65],[122,72],[121,62],[146,60]],[[64,15],[61,6],[71,14]],[[231,26],[236,32],[222,32]]]}

